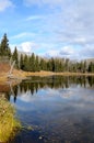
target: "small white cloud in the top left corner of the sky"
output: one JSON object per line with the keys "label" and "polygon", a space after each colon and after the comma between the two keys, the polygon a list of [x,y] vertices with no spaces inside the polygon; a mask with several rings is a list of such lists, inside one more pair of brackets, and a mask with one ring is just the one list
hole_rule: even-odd
{"label": "small white cloud in the top left corner of the sky", "polygon": [[0,0],[0,11],[4,11],[7,8],[13,7],[11,0]]}

